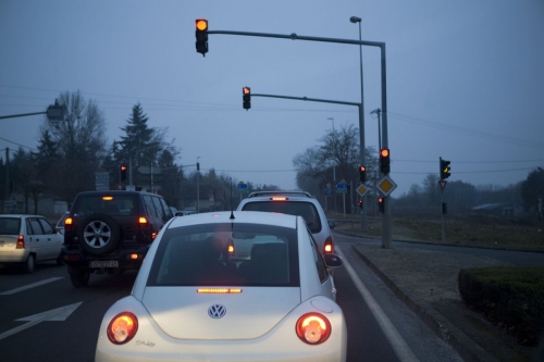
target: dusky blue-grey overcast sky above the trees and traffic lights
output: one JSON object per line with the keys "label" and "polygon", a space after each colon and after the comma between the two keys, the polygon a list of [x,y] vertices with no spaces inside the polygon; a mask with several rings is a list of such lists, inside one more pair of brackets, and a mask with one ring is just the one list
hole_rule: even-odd
{"label": "dusky blue-grey overcast sky above the trees and traffic lights", "polygon": [[[509,185],[544,166],[544,1],[0,0],[0,115],[45,111],[81,90],[103,110],[109,142],[140,102],[168,127],[178,164],[296,187],[293,158],[357,108],[254,93],[360,101],[359,47],[210,35],[238,30],[383,41],[393,197],[452,161],[452,177]],[[378,148],[380,50],[363,47],[366,143]],[[0,120],[0,149],[36,150],[42,116]],[[4,152],[1,152],[4,157]],[[339,175],[341,176],[341,175]]]}

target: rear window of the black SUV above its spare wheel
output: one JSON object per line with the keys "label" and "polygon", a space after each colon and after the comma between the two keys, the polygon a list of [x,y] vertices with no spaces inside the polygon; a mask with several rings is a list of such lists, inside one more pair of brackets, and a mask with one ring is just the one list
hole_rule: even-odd
{"label": "rear window of the black SUV above its spare wheel", "polygon": [[136,195],[88,195],[78,197],[74,215],[107,214],[110,216],[136,215]]}

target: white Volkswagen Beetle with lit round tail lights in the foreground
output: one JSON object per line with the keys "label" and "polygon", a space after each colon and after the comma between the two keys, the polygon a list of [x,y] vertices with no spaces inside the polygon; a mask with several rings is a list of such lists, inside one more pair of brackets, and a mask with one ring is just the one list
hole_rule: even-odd
{"label": "white Volkswagen Beetle with lit round tail lights in the foreground", "polygon": [[131,296],[106,312],[96,361],[345,361],[346,323],[327,273],[341,265],[319,252],[300,216],[174,217]]}

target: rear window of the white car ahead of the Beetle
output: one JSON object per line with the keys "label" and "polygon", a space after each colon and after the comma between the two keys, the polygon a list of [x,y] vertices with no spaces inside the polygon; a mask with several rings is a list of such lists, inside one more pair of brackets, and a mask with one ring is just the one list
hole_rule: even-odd
{"label": "rear window of the white car ahead of the Beetle", "polygon": [[318,209],[311,202],[304,201],[251,201],[246,203],[244,211],[277,212],[289,215],[300,215],[313,234],[321,232],[321,219]]}

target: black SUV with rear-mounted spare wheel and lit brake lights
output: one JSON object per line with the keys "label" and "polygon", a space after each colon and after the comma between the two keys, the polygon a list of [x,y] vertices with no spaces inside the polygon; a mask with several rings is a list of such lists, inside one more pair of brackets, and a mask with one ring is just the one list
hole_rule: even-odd
{"label": "black SUV with rear-mounted spare wheel and lit brake lights", "polygon": [[151,242],[172,219],[160,195],[139,191],[88,191],[77,195],[64,221],[61,254],[76,288],[90,273],[120,274],[141,266]]}

